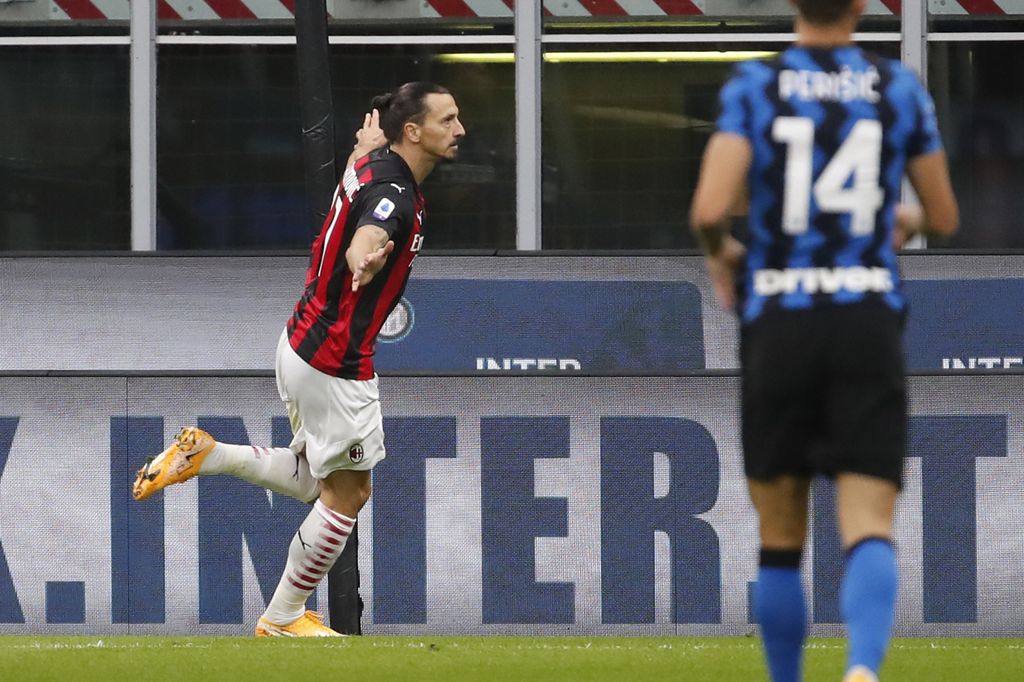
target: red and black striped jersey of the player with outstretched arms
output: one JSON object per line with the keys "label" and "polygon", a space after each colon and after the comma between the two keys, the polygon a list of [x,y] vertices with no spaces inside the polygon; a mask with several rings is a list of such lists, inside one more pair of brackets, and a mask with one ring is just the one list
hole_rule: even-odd
{"label": "red and black striped jersey of the player with outstretched arms", "polygon": [[[325,374],[374,377],[374,346],[397,305],[423,245],[423,195],[412,170],[384,147],[357,160],[335,190],[331,211],[313,242],[306,288],[288,321],[299,357]],[[377,225],[394,250],[370,284],[352,292],[345,252],[362,225]]]}

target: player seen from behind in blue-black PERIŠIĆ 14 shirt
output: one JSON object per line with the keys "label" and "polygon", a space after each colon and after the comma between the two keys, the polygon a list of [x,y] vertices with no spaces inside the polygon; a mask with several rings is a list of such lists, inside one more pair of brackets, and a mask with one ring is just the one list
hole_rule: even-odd
{"label": "player seen from behind in blue-black PERI\u0160I\u0106 14 shirt", "polygon": [[[845,679],[878,679],[907,430],[894,248],[957,223],[928,93],[851,42],[864,3],[794,0],[797,43],[737,68],[690,215],[715,291],[740,318],[743,463],[761,538],[754,609],[775,682],[802,677],[800,558],[817,473],[836,479],[846,552]],[[898,204],[904,172],[921,208]],[[746,246],[727,222],[744,189]]]}

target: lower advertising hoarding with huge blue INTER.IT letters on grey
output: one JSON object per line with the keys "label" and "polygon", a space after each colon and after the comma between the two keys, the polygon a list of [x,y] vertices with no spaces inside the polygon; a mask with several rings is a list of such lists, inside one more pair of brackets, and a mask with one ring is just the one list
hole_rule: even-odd
{"label": "lower advertising hoarding with huge blue INTER.IT letters on grey", "polygon": [[[910,380],[901,635],[1024,628],[1022,384]],[[381,395],[388,456],[359,514],[367,632],[751,631],[736,378],[385,377]],[[0,404],[0,633],[252,632],[308,506],[230,476],[141,503],[129,486],[183,424],[287,443],[271,378],[8,377]],[[75,481],[74,513],[55,479]],[[837,635],[827,481],[813,506],[810,613]]]}

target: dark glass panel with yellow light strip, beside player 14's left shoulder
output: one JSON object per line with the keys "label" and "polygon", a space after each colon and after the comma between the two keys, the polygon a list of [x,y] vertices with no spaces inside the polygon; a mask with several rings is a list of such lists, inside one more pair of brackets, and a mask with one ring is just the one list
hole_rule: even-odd
{"label": "dark glass panel with yellow light strip, beside player 14's left shoulder", "polygon": [[695,248],[687,214],[700,158],[742,55],[607,49],[545,55],[544,247]]}

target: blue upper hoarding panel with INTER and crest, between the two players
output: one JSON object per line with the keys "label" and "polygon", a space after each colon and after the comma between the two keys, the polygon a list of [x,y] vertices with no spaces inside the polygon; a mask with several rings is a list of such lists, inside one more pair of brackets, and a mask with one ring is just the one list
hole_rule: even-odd
{"label": "blue upper hoarding panel with INTER and crest, between the two players", "polygon": [[413,280],[377,344],[382,372],[705,369],[688,282]]}

